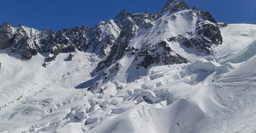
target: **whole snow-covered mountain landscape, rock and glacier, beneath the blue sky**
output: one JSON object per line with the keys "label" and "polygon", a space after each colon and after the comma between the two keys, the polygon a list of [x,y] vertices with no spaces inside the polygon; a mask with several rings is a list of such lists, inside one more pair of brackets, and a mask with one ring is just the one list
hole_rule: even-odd
{"label": "whole snow-covered mountain landscape, rock and glacier, beneath the blue sky", "polygon": [[256,25],[168,0],[95,27],[0,25],[0,132],[256,132]]}

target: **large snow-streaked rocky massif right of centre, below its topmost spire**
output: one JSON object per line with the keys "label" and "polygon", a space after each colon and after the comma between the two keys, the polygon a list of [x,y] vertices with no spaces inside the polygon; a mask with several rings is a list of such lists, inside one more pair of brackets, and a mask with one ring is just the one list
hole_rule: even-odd
{"label": "large snow-streaked rocky massif right of centre, below its topmost spire", "polygon": [[134,81],[151,66],[187,63],[214,55],[212,48],[222,42],[214,18],[196,8],[156,15],[131,15],[124,10],[114,20],[129,26],[123,27],[109,55],[99,62],[95,70],[99,80],[89,88],[91,91],[99,91],[109,80]]}

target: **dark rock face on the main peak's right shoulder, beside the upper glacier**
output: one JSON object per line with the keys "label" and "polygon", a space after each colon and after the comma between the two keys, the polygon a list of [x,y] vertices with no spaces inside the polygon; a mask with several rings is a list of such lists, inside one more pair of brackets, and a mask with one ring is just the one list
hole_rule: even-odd
{"label": "dark rock face on the main peak's right shoulder, beside the upper glacier", "polygon": [[[186,32],[186,34],[172,36],[168,38],[168,41],[179,42],[180,45],[192,48],[197,55],[202,53],[214,55],[215,52],[211,50],[211,47],[221,45],[223,40],[217,22],[208,11],[199,11],[195,8],[186,13],[186,16],[189,17],[189,20],[194,20],[195,17],[197,18],[196,30],[194,32]],[[172,18],[175,21],[175,15]],[[190,36],[190,38],[186,36]]]}

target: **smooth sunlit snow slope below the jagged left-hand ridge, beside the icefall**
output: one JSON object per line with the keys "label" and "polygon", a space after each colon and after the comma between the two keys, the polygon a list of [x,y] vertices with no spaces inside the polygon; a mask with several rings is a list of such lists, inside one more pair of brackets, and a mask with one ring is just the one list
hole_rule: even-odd
{"label": "smooth sunlit snow slope below the jagged left-hand ridge, beside the icefall", "polygon": [[[49,67],[42,67],[42,55],[19,60],[0,54],[1,132],[21,132],[42,118],[46,125],[52,124],[51,121],[56,122],[62,117],[58,113],[52,115],[52,112],[77,99],[81,102],[81,96],[77,95],[84,95],[84,90],[74,87],[92,78],[90,72],[97,66],[99,58],[84,52],[77,52],[70,62],[67,57],[68,53],[63,53]],[[70,110],[70,107],[65,108]],[[61,109],[64,114],[65,108]],[[47,116],[49,113],[51,121]]]}

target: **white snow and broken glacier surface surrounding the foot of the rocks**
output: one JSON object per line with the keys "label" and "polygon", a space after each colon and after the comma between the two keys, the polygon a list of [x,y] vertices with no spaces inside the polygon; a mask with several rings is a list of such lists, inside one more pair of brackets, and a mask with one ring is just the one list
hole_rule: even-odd
{"label": "white snow and broken glacier surface surrounding the foot of the rocks", "polygon": [[[151,67],[132,82],[124,75],[136,75],[132,56],[125,56],[120,75],[95,94],[77,88],[95,78],[95,54],[77,52],[68,62],[69,53],[61,53],[42,67],[40,54],[20,60],[0,52],[0,132],[256,132],[255,31],[230,24],[221,29],[216,57]],[[135,48],[147,41],[140,32],[136,38]]]}

